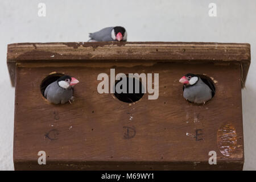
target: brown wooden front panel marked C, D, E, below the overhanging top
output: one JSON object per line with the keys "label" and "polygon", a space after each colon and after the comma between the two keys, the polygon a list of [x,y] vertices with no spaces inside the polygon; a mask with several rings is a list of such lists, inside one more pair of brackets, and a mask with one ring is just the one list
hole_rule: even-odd
{"label": "brown wooden front panel marked C, D, E, below the overhanging top", "polygon": [[[144,94],[128,104],[113,94],[99,94],[97,75],[110,75],[110,68],[116,73],[159,73],[158,100],[148,100]],[[80,80],[72,105],[49,104],[40,93],[41,81],[51,72]],[[216,94],[207,104],[184,100],[179,78],[188,72],[206,74],[216,82]],[[187,67],[168,62],[131,66],[105,61],[101,67],[86,62],[64,67],[60,62],[47,67],[20,63],[15,169],[242,169],[240,72],[240,65],[232,63]],[[227,126],[236,135],[222,132]],[[136,131],[133,138],[124,137],[127,127]],[[233,143],[234,138],[232,150],[223,152],[229,143],[226,139]],[[46,151],[46,165],[37,164],[38,151]],[[217,152],[217,165],[208,164],[209,151]]]}

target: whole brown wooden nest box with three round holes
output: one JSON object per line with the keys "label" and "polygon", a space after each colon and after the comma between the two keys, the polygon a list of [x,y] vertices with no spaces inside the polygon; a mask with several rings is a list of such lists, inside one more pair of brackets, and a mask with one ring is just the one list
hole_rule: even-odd
{"label": "whole brown wooden nest box with three round holes", "polygon": [[[243,167],[241,88],[250,44],[18,43],[8,46],[7,64],[16,89],[16,170]],[[98,93],[97,77],[110,80],[110,69],[115,76],[152,73],[152,80],[159,73],[159,97]],[[187,73],[214,82],[212,100],[196,105],[183,98],[179,78]],[[80,81],[75,102],[50,104],[43,90],[62,75]],[[109,89],[116,83],[110,80]]]}

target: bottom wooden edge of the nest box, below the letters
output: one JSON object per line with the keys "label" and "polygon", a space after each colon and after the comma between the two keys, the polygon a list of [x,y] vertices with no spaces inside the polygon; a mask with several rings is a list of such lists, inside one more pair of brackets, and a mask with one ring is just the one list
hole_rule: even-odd
{"label": "bottom wooden edge of the nest box, below the letters", "polygon": [[45,165],[39,165],[38,161],[14,160],[15,171],[38,171],[38,170],[93,170],[93,171],[242,171],[243,160],[233,160],[232,162],[218,161],[215,165],[209,162],[73,162],[73,161],[52,161]]}

